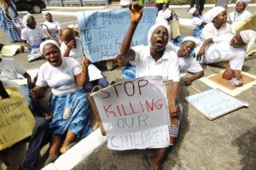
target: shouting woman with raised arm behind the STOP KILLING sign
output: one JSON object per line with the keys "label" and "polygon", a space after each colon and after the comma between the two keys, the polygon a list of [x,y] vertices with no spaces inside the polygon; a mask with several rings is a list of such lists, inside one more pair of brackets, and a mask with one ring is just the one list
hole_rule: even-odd
{"label": "shouting woman with raised arm behind the STOP KILLING sign", "polygon": [[[170,26],[162,23],[155,24],[148,31],[148,45],[138,45],[131,47],[131,39],[137,28],[139,21],[143,16],[143,7],[138,4],[130,5],[131,22],[123,39],[120,55],[136,65],[136,77],[145,76],[161,76],[164,80],[173,81],[174,99],[176,108],[175,111],[169,113],[171,119],[177,120],[177,126],[170,126],[169,133],[170,145],[174,143],[177,137],[179,121],[181,115],[178,114],[177,96],[179,93],[179,70],[177,63],[177,54],[168,44],[171,37]],[[143,162],[148,169],[160,169],[160,164],[163,161],[166,151],[169,148],[160,148],[154,150],[153,156],[143,156]]]}

